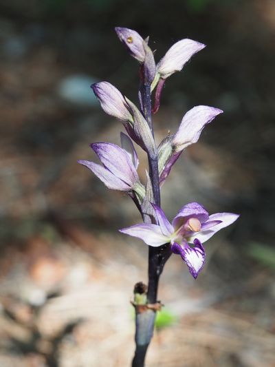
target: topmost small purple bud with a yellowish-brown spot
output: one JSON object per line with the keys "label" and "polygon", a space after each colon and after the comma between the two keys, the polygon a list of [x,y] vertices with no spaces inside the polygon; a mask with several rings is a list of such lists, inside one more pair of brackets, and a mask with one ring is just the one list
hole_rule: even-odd
{"label": "topmost small purple bud with a yellowish-brown spot", "polygon": [[145,50],[142,36],[129,28],[115,27],[115,32],[118,34],[120,41],[126,45],[130,54],[140,63],[144,63]]}

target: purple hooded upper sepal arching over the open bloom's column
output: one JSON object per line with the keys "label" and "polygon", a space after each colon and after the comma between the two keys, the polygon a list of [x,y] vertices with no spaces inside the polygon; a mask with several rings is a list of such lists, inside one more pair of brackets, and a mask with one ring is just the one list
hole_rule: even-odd
{"label": "purple hooded upper sepal arching over the open bloom's column", "polygon": [[[178,229],[189,218],[197,218],[199,222],[203,223],[208,220],[208,211],[203,208],[198,202],[190,202],[184,205],[173,219],[172,225],[174,229]],[[197,234],[197,233],[196,233]]]}

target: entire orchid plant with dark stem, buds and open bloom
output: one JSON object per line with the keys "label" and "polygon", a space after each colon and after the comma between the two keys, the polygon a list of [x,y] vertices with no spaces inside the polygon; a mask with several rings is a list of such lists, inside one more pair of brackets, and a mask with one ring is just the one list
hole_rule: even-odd
{"label": "entire orchid plant with dark stem, buds and open bloom", "polygon": [[[120,229],[120,232],[148,244],[148,286],[142,282],[135,284],[132,302],[135,307],[136,346],[132,366],[143,367],[146,350],[153,337],[155,314],[162,306],[157,301],[157,289],[164,264],[171,254],[180,255],[196,279],[206,260],[204,243],[239,216],[234,213],[209,216],[202,205],[191,202],[169,222],[160,204],[160,186],[181,153],[189,145],[197,143],[203,128],[222,113],[221,109],[214,107],[193,107],[184,115],[175,134],[167,134],[158,147],[155,143],[152,112],[159,109],[166,79],[182,70],[185,63],[205,45],[181,39],[156,64],[148,37],[142,39],[140,34],[129,28],[117,27],[115,32],[131,56],[140,63],[140,108],[107,81],[91,85],[104,112],[121,120],[128,135],[120,133],[122,147],[107,142],[91,144],[101,165],[89,160],[78,162],[89,168],[109,189],[128,193],[142,216],[143,223]],[[154,89],[155,105],[152,109]],[[145,186],[137,173],[139,160],[134,143],[140,145],[148,156]]]}

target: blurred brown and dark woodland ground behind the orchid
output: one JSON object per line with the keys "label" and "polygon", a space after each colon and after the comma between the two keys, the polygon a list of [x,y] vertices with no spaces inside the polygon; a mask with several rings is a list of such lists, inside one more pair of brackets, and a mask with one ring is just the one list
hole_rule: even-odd
{"label": "blurred brown and dark woodland ground behind the orchid", "polygon": [[157,140],[194,105],[225,113],[177,162],[162,205],[169,218],[191,201],[241,213],[206,244],[196,281],[179,257],[166,264],[159,299],[176,321],[146,366],[275,366],[274,1],[12,0],[0,14],[0,366],[130,364],[147,248],[118,229],[140,218],[76,163],[122,129],[89,85],[136,101],[115,25],[150,34],[156,59],[184,37],[208,45],[167,81]]}

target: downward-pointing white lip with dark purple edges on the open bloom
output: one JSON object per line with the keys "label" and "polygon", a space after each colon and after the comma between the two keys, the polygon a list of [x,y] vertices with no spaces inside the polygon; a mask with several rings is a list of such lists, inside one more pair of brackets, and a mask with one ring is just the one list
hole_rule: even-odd
{"label": "downward-pointing white lip with dark purple edges on the open bloom", "polygon": [[201,242],[196,238],[194,240],[194,247],[188,246],[184,248],[177,242],[174,242],[171,250],[173,253],[181,255],[182,260],[188,266],[190,274],[196,279],[206,261],[206,252]]}

